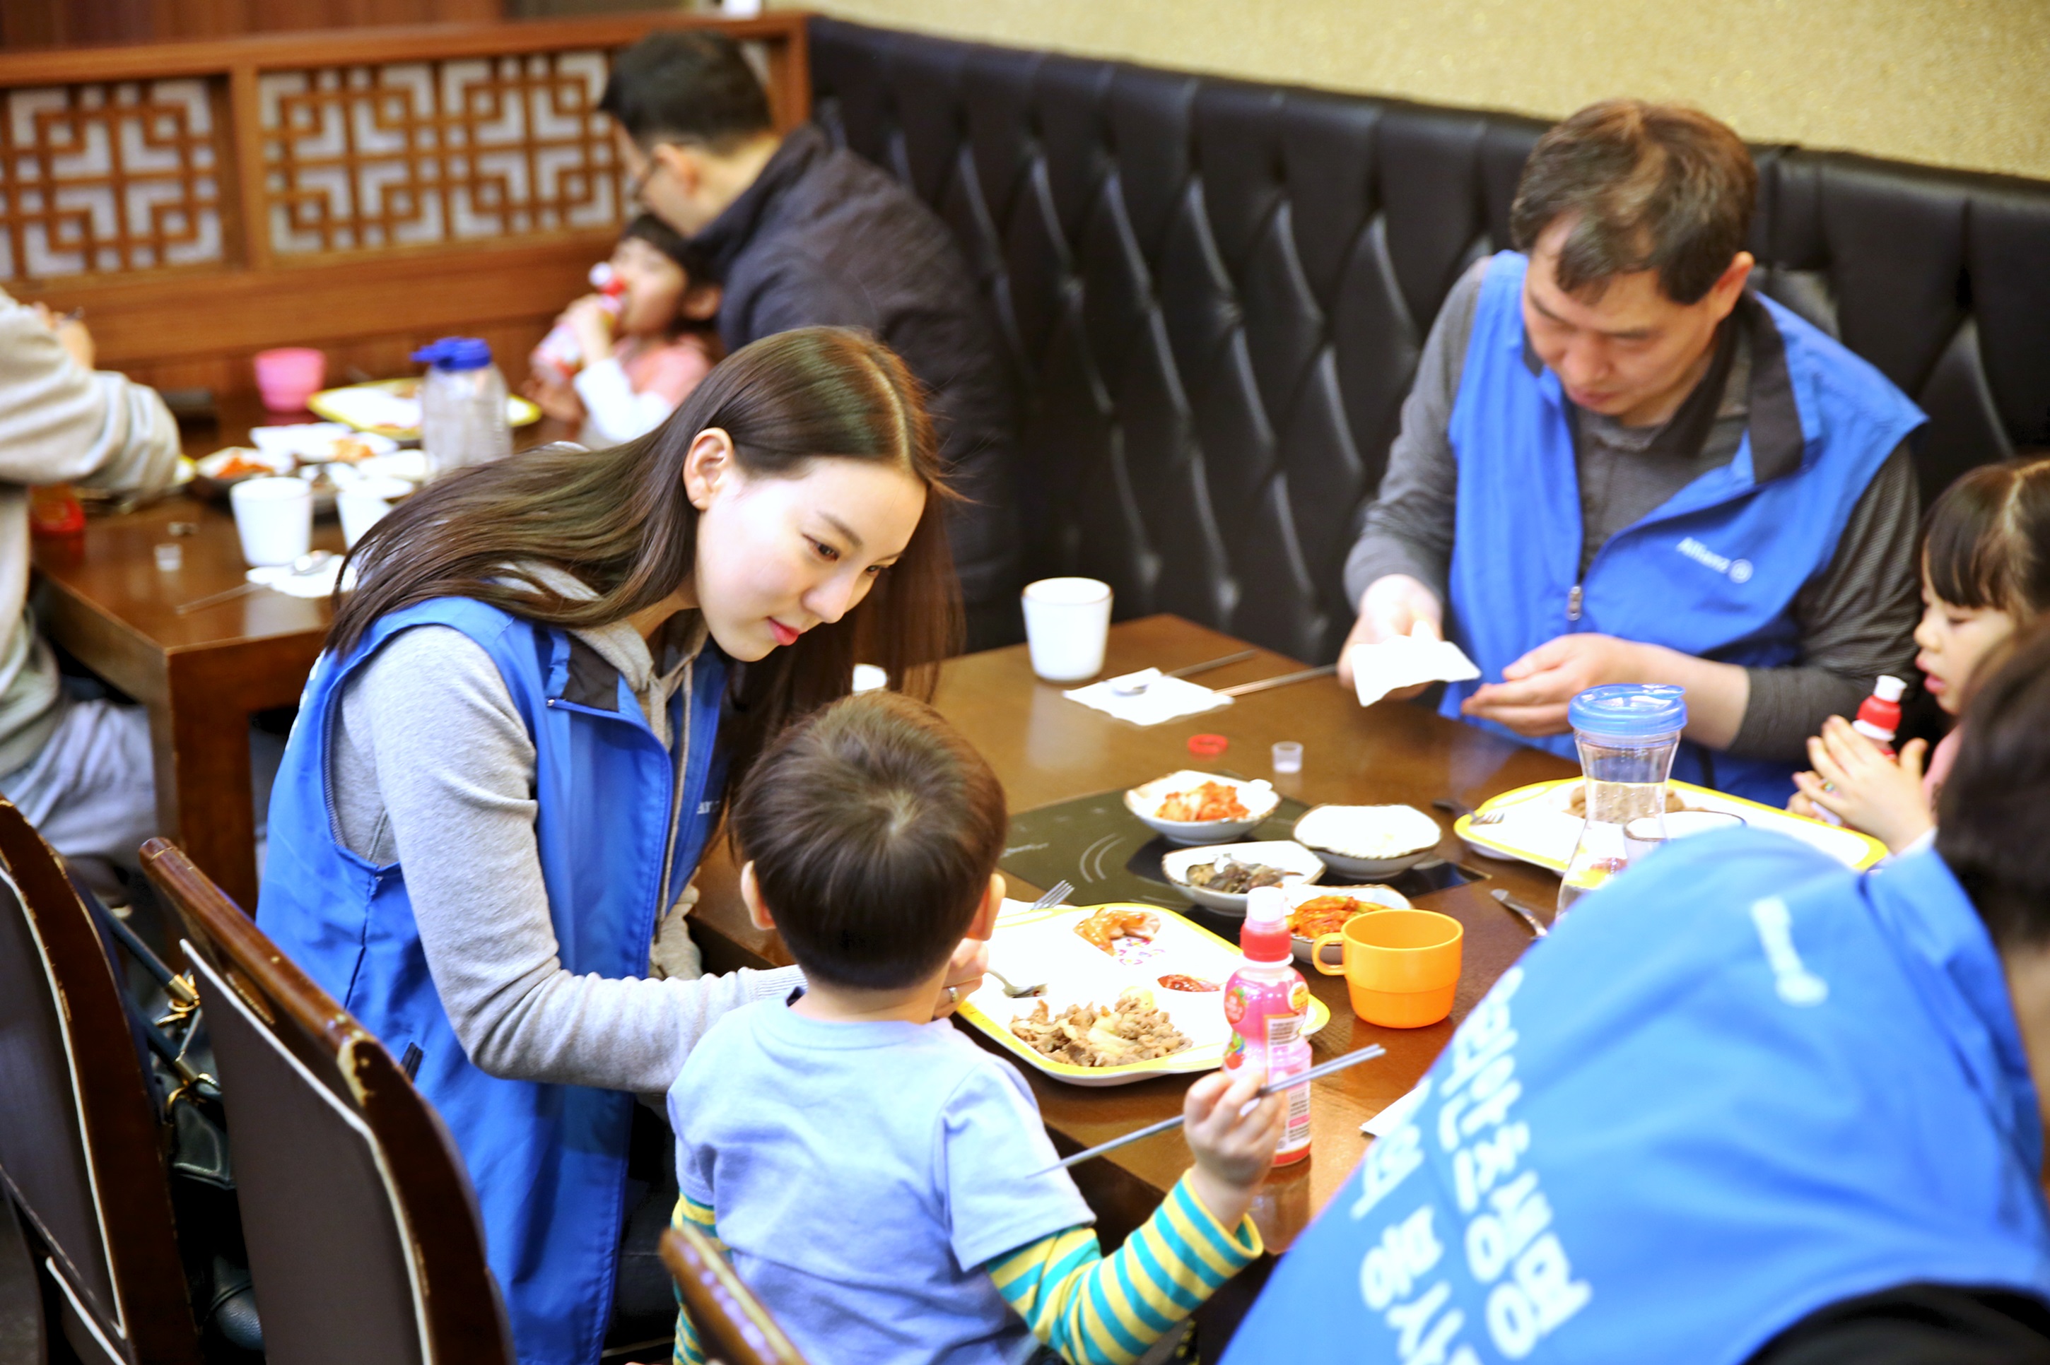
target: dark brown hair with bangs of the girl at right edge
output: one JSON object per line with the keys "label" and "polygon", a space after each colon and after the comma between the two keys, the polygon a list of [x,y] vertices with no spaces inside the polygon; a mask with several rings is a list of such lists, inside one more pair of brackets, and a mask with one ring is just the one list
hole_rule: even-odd
{"label": "dark brown hair with bangs of the girl at right edge", "polygon": [[1923,521],[1929,590],[1952,607],[2050,611],[2050,453],[1980,465]]}

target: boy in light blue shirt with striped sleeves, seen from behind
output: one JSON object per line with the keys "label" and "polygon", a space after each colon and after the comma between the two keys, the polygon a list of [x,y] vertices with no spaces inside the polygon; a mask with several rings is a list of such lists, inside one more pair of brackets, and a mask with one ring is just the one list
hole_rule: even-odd
{"label": "boy in light blue shirt with striped sleeves, seen from behind", "polygon": [[[1261,1250],[1246,1217],[1283,1101],[1205,1076],[1195,1170],[1103,1258],[1023,1076],[935,1023],[947,959],[1002,904],[996,775],[931,707],[849,697],[748,775],[740,890],[810,982],[724,1017],[668,1092],[676,1217],[818,1361],[1132,1361]],[[697,1361],[679,1316],[679,1359]]]}

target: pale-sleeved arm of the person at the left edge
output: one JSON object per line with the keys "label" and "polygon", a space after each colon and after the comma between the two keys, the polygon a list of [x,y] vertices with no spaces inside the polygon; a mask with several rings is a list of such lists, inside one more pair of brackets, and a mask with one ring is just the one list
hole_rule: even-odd
{"label": "pale-sleeved arm of the person at the left edge", "polygon": [[90,334],[0,293],[0,482],[154,492],[178,469],[156,389],[88,369]]}

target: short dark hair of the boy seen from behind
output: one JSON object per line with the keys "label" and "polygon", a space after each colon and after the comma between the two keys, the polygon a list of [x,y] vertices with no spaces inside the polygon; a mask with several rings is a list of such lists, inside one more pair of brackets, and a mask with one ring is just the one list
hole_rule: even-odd
{"label": "short dark hair of the boy seen from behind", "polygon": [[863,693],[754,762],[732,830],[808,976],[896,990],[968,933],[1004,851],[1004,789],[939,711]]}

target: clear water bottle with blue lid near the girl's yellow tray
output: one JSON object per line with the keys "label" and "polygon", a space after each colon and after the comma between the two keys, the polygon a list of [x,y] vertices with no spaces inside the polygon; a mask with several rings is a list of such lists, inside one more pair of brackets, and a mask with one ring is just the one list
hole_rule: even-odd
{"label": "clear water bottle with blue lid near the girl's yellow tray", "polygon": [[1619,873],[1630,861],[1624,826],[1656,822],[1665,838],[1665,793],[1673,754],[1687,728],[1687,693],[1667,685],[1591,687],[1566,705],[1581,750],[1587,820],[1558,883],[1558,912]]}

